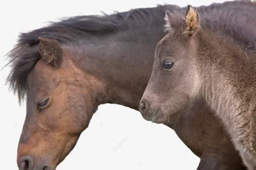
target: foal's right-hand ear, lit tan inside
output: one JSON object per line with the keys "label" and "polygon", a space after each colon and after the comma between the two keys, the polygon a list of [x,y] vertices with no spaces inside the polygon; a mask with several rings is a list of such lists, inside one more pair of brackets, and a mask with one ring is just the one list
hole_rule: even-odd
{"label": "foal's right-hand ear, lit tan inside", "polygon": [[188,10],[185,15],[185,31],[183,34],[189,34],[189,36],[195,36],[196,32],[200,27],[199,15],[192,6],[188,5]]}

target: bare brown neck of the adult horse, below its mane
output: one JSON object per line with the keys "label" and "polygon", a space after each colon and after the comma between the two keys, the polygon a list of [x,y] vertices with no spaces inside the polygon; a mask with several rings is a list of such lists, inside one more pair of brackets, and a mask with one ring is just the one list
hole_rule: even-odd
{"label": "bare brown neck of the adult horse, below its mane", "polygon": [[152,71],[154,49],[165,34],[160,25],[152,24],[148,29],[134,28],[102,38],[97,44],[88,42],[84,45],[84,62],[79,65],[105,81],[103,103],[138,110]]}

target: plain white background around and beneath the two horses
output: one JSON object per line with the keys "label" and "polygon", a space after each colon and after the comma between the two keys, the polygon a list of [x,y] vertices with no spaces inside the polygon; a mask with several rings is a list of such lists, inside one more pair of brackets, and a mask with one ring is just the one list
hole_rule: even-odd
{"label": "plain white background around and beneath the two horses", "polygon": [[[65,3],[67,2],[67,3]],[[216,0],[216,3],[223,1]],[[61,17],[111,14],[131,8],[154,7],[156,4],[186,6],[209,5],[212,1],[1,1],[0,3],[0,69],[4,55],[15,45],[19,32],[27,32]],[[26,115],[25,104],[4,85],[8,67],[0,70],[0,163],[1,169],[18,169],[17,145]],[[93,116],[88,129],[74,150],[57,169],[196,169],[196,157],[164,125],[144,120],[138,111],[116,104],[104,104]]]}

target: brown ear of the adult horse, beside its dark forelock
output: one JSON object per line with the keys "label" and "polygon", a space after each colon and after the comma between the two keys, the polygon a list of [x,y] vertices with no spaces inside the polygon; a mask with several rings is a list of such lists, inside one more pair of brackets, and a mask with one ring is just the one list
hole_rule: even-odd
{"label": "brown ear of the adult horse, beside its dark forelock", "polygon": [[56,39],[42,38],[39,39],[39,53],[42,59],[52,67],[60,67],[63,59],[63,50]]}

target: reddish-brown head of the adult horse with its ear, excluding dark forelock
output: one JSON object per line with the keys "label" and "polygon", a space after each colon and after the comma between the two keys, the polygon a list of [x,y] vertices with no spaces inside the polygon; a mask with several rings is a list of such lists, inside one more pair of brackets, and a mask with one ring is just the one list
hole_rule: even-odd
{"label": "reddish-brown head of the adult horse with its ear, excluding dark forelock", "polygon": [[[42,60],[29,74],[29,80],[33,81],[28,84],[28,104],[35,106],[29,106],[29,118],[24,123],[19,141],[17,163],[20,165],[22,161],[32,159],[35,169],[42,169],[45,165],[54,169],[74,148],[97,109],[92,107],[97,105],[95,99],[88,94],[102,96],[100,91],[104,83],[78,69],[70,60],[71,53],[67,48],[58,45],[54,39],[40,38],[39,51],[43,54]],[[33,94],[36,95],[31,98]],[[39,111],[36,108],[38,101],[46,98],[50,99],[47,106]],[[31,100],[35,102],[31,103]],[[33,150],[29,149],[31,146]]]}

